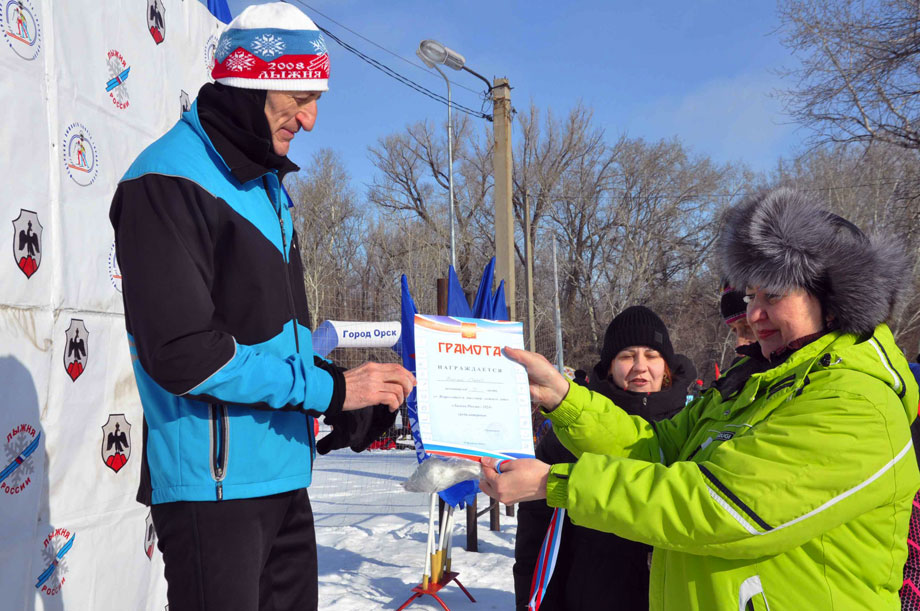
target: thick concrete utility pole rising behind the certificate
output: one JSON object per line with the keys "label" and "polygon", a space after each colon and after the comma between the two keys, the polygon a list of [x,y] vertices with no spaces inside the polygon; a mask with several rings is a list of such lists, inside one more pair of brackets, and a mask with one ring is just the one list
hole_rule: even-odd
{"label": "thick concrete utility pole rising behind the certificate", "polygon": [[514,283],[514,215],[511,208],[511,86],[508,79],[497,78],[492,83],[492,117],[495,147],[492,166],[495,175],[495,281],[505,281],[508,315],[515,312]]}

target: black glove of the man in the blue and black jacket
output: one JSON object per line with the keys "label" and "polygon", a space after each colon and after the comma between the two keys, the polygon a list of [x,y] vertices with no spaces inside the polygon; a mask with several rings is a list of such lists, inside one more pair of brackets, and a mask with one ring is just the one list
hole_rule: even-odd
{"label": "black glove of the man in the blue and black jacket", "polygon": [[332,375],[335,388],[329,409],[323,415],[323,422],[332,427],[332,432],[316,442],[316,451],[320,454],[328,454],[332,450],[351,448],[354,452],[363,452],[374,443],[375,439],[393,426],[393,423],[396,422],[396,412],[390,412],[390,409],[383,404],[343,411],[345,376],[342,375],[342,371],[344,370],[318,357],[314,358],[314,364]]}

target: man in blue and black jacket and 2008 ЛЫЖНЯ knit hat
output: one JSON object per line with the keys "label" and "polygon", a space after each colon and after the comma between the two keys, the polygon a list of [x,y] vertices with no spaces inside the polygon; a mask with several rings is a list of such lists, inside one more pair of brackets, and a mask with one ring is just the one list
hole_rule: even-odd
{"label": "man in blue and black jacket and 2008 \u041b\u042b\u0416\u041d\u042f knit hat", "polygon": [[313,353],[281,180],[328,70],[309,17],[247,8],[221,35],[216,83],[112,202],[144,406],[138,500],[152,505],[173,611],[316,609],[313,419],[334,427],[320,453],[360,451],[415,383],[399,365],[342,372]]}

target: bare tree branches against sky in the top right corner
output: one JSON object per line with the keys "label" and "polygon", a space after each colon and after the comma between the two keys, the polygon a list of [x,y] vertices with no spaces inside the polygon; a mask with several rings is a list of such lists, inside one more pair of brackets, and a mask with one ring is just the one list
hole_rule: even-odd
{"label": "bare tree branches against sky in the top right corner", "polygon": [[920,149],[920,3],[783,0],[789,110],[819,141]]}

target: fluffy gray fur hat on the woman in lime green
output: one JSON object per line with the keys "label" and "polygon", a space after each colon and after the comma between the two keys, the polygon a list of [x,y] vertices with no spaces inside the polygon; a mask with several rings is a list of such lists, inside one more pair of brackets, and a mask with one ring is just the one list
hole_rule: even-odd
{"label": "fluffy gray fur hat on the woman in lime green", "polygon": [[731,208],[719,253],[733,286],[804,288],[838,328],[857,334],[891,316],[910,266],[896,240],[867,236],[788,188],[760,191]]}

